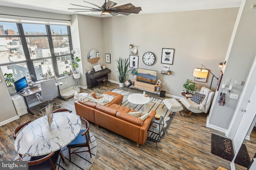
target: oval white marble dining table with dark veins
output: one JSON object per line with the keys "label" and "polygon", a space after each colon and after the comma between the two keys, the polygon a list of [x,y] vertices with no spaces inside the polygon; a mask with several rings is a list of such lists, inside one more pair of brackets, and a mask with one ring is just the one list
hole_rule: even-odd
{"label": "oval white marble dining table with dark veins", "polygon": [[54,113],[52,123],[54,128],[49,130],[43,116],[24,127],[14,142],[18,153],[28,156],[50,154],[73,141],[81,129],[80,117],[72,113]]}

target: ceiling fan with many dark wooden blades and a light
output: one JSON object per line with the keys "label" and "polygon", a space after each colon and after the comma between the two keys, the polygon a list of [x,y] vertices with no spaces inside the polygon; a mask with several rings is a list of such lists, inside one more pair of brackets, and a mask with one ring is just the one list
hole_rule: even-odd
{"label": "ceiling fan with many dark wooden blades and a light", "polygon": [[[86,1],[84,1],[86,2]],[[92,4],[90,2],[86,2],[88,4]],[[74,6],[81,6],[84,8],[68,8],[68,10],[79,10],[79,11],[74,11],[74,12],[101,12],[100,16],[104,16],[106,14],[110,14],[112,16],[117,16],[118,14],[122,15],[130,15],[130,14],[138,14],[141,11],[140,7],[135,7],[131,3],[129,4],[124,4],[121,6],[116,6],[117,4],[115,2],[112,2],[108,0],[108,2],[104,2],[102,6],[98,6],[96,4],[92,4],[93,6],[96,6],[97,8],[92,8],[89,6],[82,6],[82,5],[76,5],[76,4],[71,4]],[[116,6],[116,7],[114,7]]]}

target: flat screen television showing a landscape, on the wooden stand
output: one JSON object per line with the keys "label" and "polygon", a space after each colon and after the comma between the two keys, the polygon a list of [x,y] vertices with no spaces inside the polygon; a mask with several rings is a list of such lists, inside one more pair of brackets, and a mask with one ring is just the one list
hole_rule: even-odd
{"label": "flat screen television showing a landscape, on the wooden stand", "polygon": [[147,70],[147,69],[144,69],[144,68],[138,68],[138,70],[137,70],[137,81],[148,83],[148,84],[156,84],[157,71]]}

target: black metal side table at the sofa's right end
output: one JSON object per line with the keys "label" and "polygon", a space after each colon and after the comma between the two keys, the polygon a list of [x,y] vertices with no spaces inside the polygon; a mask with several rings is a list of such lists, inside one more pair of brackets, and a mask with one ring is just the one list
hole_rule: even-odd
{"label": "black metal side table at the sofa's right end", "polygon": [[151,123],[148,128],[148,140],[156,143],[159,142],[159,137],[162,133],[164,127],[164,117],[160,116],[159,120],[156,120],[155,117],[151,120]]}

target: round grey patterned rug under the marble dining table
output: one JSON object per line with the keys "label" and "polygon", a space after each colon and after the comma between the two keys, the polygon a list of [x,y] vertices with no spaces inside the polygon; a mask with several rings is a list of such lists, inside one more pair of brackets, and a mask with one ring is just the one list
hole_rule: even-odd
{"label": "round grey patterned rug under the marble dining table", "polygon": [[[60,169],[60,170],[88,170],[91,166],[92,163],[94,161],[94,158],[96,156],[97,153],[97,143],[96,143],[96,139],[94,137],[94,135],[92,133],[90,133],[90,149],[91,149],[91,153],[92,153],[92,158],[90,157],[90,153],[89,152],[81,152],[81,153],[76,153],[76,154],[71,154],[71,160],[72,162],[69,161],[69,156],[68,156],[68,148],[64,147],[62,148],[62,152],[68,162],[68,166],[66,166],[66,164],[60,160],[60,156],[58,158],[58,164],[56,166],[56,169]],[[71,151],[74,151],[76,149],[71,149]],[[82,147],[82,148],[78,148],[77,151],[82,151],[82,150],[88,150],[87,147]],[[24,160],[29,160],[29,156],[24,156],[23,157]],[[16,159],[18,160],[18,158]],[[59,164],[60,162],[60,164]]]}

